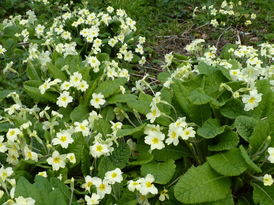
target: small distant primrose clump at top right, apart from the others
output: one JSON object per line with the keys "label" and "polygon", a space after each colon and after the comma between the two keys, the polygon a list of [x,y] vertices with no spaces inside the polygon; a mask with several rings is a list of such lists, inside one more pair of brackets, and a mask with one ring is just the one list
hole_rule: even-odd
{"label": "small distant primrose clump at top right, apart from the others", "polygon": [[242,2],[238,3],[223,1],[221,5],[213,5],[212,3],[202,4],[201,9],[195,7],[193,11],[194,21],[199,24],[210,23],[213,27],[234,27],[244,24],[248,26],[256,19],[255,13],[250,13],[242,6]]}

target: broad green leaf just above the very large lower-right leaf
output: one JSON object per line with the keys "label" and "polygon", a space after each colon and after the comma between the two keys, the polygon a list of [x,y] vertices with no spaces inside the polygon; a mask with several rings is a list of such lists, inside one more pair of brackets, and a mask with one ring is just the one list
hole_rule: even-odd
{"label": "broad green leaf just above the very large lower-right leaf", "polygon": [[213,169],[224,176],[237,176],[248,168],[240,149],[236,148],[207,157],[207,161]]}

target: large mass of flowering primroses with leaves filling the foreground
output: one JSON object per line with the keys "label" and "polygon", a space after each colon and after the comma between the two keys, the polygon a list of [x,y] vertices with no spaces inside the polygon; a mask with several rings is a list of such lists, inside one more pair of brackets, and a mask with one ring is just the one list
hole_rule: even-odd
{"label": "large mass of flowering primroses with leaves filling the foreground", "polygon": [[198,39],[190,58],[166,54],[159,92],[147,75],[129,89],[145,38],[125,11],[107,12],[2,24],[3,76],[20,73],[6,55],[20,42],[35,105],[1,93],[12,102],[0,117],[1,202],[271,204],[273,45],[218,56]]}

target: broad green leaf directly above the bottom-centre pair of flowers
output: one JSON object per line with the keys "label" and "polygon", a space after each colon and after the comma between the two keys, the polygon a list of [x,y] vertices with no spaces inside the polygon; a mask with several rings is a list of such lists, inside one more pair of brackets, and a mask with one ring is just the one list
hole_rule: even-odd
{"label": "broad green leaf directly above the bottom-centre pair of flowers", "polygon": [[141,174],[146,176],[151,174],[154,177],[154,183],[167,184],[172,178],[176,165],[174,160],[169,159],[166,162],[149,162],[141,165]]}

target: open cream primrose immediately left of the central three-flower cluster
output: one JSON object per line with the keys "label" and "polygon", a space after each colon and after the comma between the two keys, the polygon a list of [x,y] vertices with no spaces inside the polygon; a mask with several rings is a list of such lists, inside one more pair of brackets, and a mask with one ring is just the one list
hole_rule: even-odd
{"label": "open cream primrose immediately left of the central three-flower cluster", "polygon": [[162,132],[155,130],[149,131],[149,135],[145,137],[145,143],[150,145],[150,149],[163,149],[165,147],[163,140],[165,135]]}

